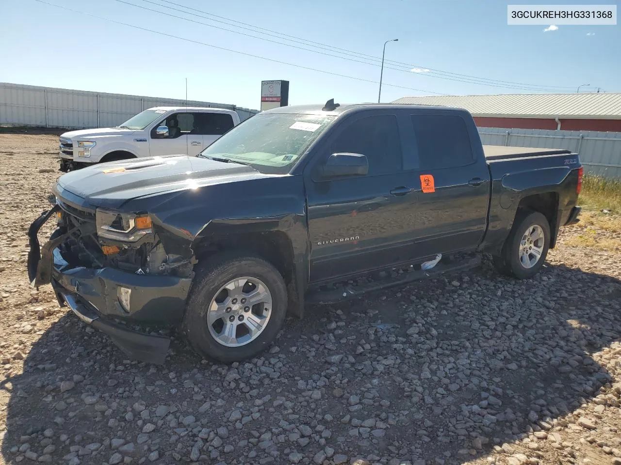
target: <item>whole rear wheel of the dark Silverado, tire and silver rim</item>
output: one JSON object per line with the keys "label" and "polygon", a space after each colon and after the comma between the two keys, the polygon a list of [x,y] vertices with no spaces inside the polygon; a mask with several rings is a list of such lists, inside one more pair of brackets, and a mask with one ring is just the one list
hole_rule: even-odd
{"label": "whole rear wheel of the dark Silverado, tire and silver rim", "polygon": [[515,218],[494,266],[505,274],[530,279],[543,267],[550,248],[550,223],[538,211],[522,211]]}

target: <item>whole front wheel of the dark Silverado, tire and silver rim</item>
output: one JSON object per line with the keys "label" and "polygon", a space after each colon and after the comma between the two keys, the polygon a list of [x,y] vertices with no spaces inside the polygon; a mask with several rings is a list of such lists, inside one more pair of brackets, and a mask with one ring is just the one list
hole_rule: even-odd
{"label": "whole front wheel of the dark Silverado, tire and silver rim", "polygon": [[270,263],[252,255],[223,254],[197,272],[183,331],[206,358],[229,363],[265,350],[287,311],[287,290]]}

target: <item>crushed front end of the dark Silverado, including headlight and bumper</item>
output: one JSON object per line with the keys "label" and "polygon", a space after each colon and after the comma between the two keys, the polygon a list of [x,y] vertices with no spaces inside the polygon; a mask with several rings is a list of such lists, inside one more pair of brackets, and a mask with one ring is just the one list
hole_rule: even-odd
{"label": "crushed front end of the dark Silverado, including headlight and bumper", "polygon": [[[73,201],[72,201],[73,200]],[[60,197],[30,226],[29,279],[51,283],[61,306],[108,334],[127,355],[163,363],[170,339],[130,326],[181,322],[193,278],[193,258],[167,254],[146,213],[92,208]],[[42,247],[37,233],[55,219]]]}

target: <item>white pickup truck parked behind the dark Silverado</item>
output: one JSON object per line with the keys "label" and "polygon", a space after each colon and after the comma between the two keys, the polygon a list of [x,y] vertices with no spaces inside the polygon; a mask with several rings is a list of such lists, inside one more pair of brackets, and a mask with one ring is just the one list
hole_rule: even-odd
{"label": "white pickup truck parked behind the dark Silverado", "polygon": [[197,155],[239,124],[234,110],[153,107],[114,128],[70,131],[60,136],[60,170],[95,163],[171,154]]}

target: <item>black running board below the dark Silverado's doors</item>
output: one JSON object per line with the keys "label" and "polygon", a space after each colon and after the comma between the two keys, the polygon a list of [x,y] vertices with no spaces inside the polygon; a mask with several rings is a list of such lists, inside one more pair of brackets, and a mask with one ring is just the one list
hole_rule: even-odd
{"label": "black running board below the dark Silverado's doors", "polygon": [[309,290],[304,299],[308,304],[333,304],[345,300],[355,299],[373,291],[401,286],[412,283],[414,281],[422,281],[425,279],[436,278],[446,273],[460,272],[469,270],[470,268],[481,265],[481,256],[470,257],[454,263],[438,263],[431,270],[414,270],[403,273],[396,278],[384,278],[371,283],[365,283],[358,286],[351,284],[338,286],[330,290]]}

